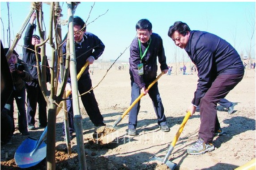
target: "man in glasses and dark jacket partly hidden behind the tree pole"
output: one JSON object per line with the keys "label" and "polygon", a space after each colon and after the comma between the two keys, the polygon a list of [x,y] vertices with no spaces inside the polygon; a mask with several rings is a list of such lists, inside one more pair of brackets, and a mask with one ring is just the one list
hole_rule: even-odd
{"label": "man in glasses and dark jacket partly hidden behind the tree pole", "polygon": [[[75,40],[75,53],[77,61],[77,73],[80,72],[83,65],[86,61],[89,61],[89,65],[94,63],[94,60],[97,60],[100,57],[105,49],[105,45],[102,41],[90,32],[86,32],[85,22],[78,16],[73,19],[73,28],[74,28],[74,40]],[[65,57],[66,52],[66,41],[63,45],[63,54]],[[78,91],[80,94],[83,94],[89,91],[92,87],[92,81],[89,73],[89,65],[85,69],[84,73],[81,75],[78,80]],[[71,91],[71,81],[68,79],[66,85],[66,90]],[[85,110],[90,117],[90,120],[95,126],[105,126],[103,123],[103,117],[98,108],[98,103],[94,96],[94,91],[91,90],[90,93],[86,93],[81,96],[81,101],[85,107]],[[67,100],[67,109],[68,109],[68,122],[69,122],[69,133],[72,137],[74,131],[73,125],[73,109],[72,101]],[[63,126],[64,133],[64,126]]]}

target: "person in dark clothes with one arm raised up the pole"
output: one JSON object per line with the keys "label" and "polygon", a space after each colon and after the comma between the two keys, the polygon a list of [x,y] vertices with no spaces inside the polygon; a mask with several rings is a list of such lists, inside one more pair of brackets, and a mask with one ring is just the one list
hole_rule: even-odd
{"label": "person in dark clothes with one arm raised up the pole", "polygon": [[[33,35],[35,28],[34,20],[36,19],[36,13],[34,12],[30,17],[30,23],[26,29],[24,36],[23,46],[23,61],[29,66],[30,74],[33,80],[26,83],[27,90],[27,118],[28,118],[28,129],[35,130],[35,113],[38,103],[38,119],[39,127],[47,126],[47,103],[43,97],[43,93],[39,87],[38,72],[36,67],[35,57],[35,45],[40,44],[40,38],[37,35]],[[40,48],[38,49],[40,52]],[[41,61],[40,54],[38,53],[39,60]],[[39,62],[40,63],[40,62]],[[48,62],[46,61],[48,66]],[[47,81],[50,80],[50,69],[47,67]]]}

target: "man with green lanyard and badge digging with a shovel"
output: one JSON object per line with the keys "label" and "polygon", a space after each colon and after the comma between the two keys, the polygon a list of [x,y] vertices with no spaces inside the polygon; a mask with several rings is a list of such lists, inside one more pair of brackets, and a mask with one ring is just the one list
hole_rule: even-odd
{"label": "man with green lanyard and badge digging with a shovel", "polygon": [[[158,91],[158,82],[156,82],[151,89],[146,90],[149,84],[153,82],[157,76],[157,57],[161,71],[165,74],[168,71],[162,38],[158,34],[152,32],[152,24],[146,19],[137,22],[136,31],[137,38],[132,41],[129,57],[129,73],[132,85],[131,104],[137,97],[139,97],[141,91],[144,94],[149,93],[149,97],[153,101],[154,110],[158,117],[158,125],[162,131],[168,132],[170,129],[166,125],[162,99]],[[140,101],[138,101],[129,112],[129,135],[137,135],[136,127],[139,110]]]}

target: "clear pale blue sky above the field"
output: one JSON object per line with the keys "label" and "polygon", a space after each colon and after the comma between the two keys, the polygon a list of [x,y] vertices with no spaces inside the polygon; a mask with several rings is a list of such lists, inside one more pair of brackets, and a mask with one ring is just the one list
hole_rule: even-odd
{"label": "clear pale blue sky above the field", "polygon": [[[91,6],[94,2],[81,2],[77,6],[74,16],[80,16],[84,21],[87,20]],[[208,31],[227,40],[235,46],[239,54],[248,55],[250,47],[250,36],[252,36],[252,20],[255,23],[255,2],[96,2],[87,24],[86,31],[97,35],[106,48],[102,54],[103,60],[119,57],[120,53],[128,47],[132,39],[136,36],[135,25],[138,20],[147,18],[153,24],[153,32],[158,33],[162,39],[166,52],[167,63],[174,62],[174,53],[179,55],[177,60],[181,61],[183,56],[188,61],[187,54],[183,49],[177,49],[167,36],[169,27],[175,21],[183,21],[192,30]],[[63,5],[63,20],[67,19],[67,5]],[[43,3],[44,22],[46,31],[49,23],[49,5]],[[30,2],[10,2],[11,18],[11,39],[19,32],[28,12]],[[6,29],[8,28],[8,12],[6,2],[0,3],[1,20],[1,40],[6,41]],[[67,26],[62,26],[62,34],[67,32]],[[25,32],[24,32],[25,33]],[[23,36],[18,44],[23,45]],[[255,32],[254,32],[255,33]],[[235,37],[235,38],[234,38]],[[252,57],[255,57],[255,34],[252,40]],[[5,47],[8,44],[5,42]],[[51,49],[48,47],[47,56]],[[22,53],[20,46],[17,46],[17,53]],[[129,49],[119,58],[128,61]]]}

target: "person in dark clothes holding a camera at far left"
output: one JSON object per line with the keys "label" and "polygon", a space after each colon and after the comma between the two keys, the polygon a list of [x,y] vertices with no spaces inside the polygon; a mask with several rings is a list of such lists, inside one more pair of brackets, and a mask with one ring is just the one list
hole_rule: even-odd
{"label": "person in dark clothes holding a camera at far left", "polygon": [[[9,48],[4,49],[4,53],[7,54]],[[14,133],[14,118],[13,118],[13,101],[15,99],[18,108],[18,130],[22,135],[29,135],[27,129],[27,117],[26,117],[26,86],[25,81],[32,81],[32,76],[29,73],[27,65],[18,58],[19,55],[13,50],[13,53],[8,61],[10,72],[13,77],[13,93],[11,94],[7,104],[10,106],[11,117],[13,119],[13,132]]]}

